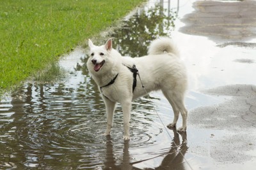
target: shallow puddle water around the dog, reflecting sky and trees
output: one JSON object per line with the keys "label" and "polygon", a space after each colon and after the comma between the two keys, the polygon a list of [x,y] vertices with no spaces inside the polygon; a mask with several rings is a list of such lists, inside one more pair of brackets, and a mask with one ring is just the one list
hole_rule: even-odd
{"label": "shallow puddle water around the dog, reflecting sky and trees", "polygon": [[[198,89],[228,83],[253,84],[256,80],[245,76],[255,71],[253,48],[218,46],[207,38],[179,32],[183,25],[179,18],[190,11],[193,8],[188,1],[149,1],[127,18],[122,28],[99,41],[112,36],[114,48],[122,55],[137,57],[145,55],[150,41],[159,35],[176,38],[188,66],[186,106],[193,113],[199,106],[230,99],[209,96]],[[200,52],[195,50],[198,46],[202,46]],[[246,164],[253,169],[253,143],[247,162],[227,161],[228,166],[223,166],[223,158],[212,153],[212,147],[219,147],[213,143],[227,136],[228,131],[189,123],[187,133],[166,132],[154,108],[164,125],[172,121],[173,113],[159,92],[132,104],[131,141],[122,140],[119,105],[111,137],[102,136],[106,127],[104,103],[85,62],[86,52],[77,48],[60,61],[65,74],[54,83],[28,81],[1,101],[0,169],[234,169],[233,163],[238,168]]]}

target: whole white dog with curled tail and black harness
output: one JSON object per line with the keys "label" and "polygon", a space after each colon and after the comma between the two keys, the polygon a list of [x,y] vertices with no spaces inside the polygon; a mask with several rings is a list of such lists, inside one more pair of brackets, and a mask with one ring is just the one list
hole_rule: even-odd
{"label": "whole white dog with curled tail and black harness", "polygon": [[[145,90],[147,92],[162,90],[174,112],[173,122],[168,127],[175,127],[181,113],[183,122],[178,131],[186,131],[188,117],[188,111],[184,106],[184,94],[187,88],[186,67],[172,39],[159,38],[152,41],[148,55],[136,58],[122,57],[112,48],[112,39],[102,46],[93,45],[89,39],[88,45],[90,57],[86,65],[106,105],[105,135],[110,134],[113,113],[118,102],[124,113],[124,140],[130,139],[132,100],[144,96]],[[138,73],[145,89],[141,86]]]}

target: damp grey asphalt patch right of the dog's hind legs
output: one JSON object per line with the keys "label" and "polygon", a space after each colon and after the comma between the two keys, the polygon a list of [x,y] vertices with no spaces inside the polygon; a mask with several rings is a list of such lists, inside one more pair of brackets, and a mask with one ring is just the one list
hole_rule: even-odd
{"label": "damp grey asphalt patch right of the dog's hind legs", "polygon": [[255,152],[256,86],[227,85],[204,93],[231,96],[224,103],[196,108],[189,117],[200,128],[225,132],[211,144],[211,157],[216,162],[239,164],[255,159],[249,152]]}

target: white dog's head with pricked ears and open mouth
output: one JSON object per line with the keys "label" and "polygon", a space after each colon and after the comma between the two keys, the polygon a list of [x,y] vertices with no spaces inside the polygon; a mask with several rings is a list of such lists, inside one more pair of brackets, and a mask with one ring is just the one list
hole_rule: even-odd
{"label": "white dog's head with pricked ears and open mouth", "polygon": [[[91,73],[103,72],[104,67],[106,67],[106,61],[112,50],[112,39],[108,39],[105,45],[95,46],[92,41],[88,40],[88,45],[90,48],[89,59],[87,61],[87,67]],[[105,70],[106,71],[106,70]]]}

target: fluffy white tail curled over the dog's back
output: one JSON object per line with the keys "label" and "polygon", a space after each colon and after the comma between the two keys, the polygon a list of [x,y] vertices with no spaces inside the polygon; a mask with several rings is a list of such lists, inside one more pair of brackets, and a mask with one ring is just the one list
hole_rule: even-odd
{"label": "fluffy white tail curled over the dog's back", "polygon": [[173,53],[179,56],[179,50],[171,38],[160,37],[155,39],[148,48],[148,55],[158,55],[163,53]]}

